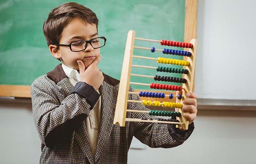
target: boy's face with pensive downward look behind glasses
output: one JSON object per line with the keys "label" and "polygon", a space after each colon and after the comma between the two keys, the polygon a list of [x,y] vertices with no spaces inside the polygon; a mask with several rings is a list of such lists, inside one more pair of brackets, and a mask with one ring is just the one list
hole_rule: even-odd
{"label": "boy's face with pensive downward look behind glasses", "polygon": [[[59,44],[69,44],[76,40],[90,40],[98,37],[97,27],[95,24],[85,23],[84,20],[74,18],[69,24],[63,29],[61,33]],[[86,49],[80,52],[72,52],[69,47],[59,46],[59,49],[54,53],[54,45],[50,45],[49,49],[52,55],[60,59],[61,62],[73,69],[79,71],[77,60],[82,60],[85,67],[87,68],[93,60],[100,54],[100,48],[94,49],[91,44],[87,44]],[[57,47],[57,46],[56,46]]]}

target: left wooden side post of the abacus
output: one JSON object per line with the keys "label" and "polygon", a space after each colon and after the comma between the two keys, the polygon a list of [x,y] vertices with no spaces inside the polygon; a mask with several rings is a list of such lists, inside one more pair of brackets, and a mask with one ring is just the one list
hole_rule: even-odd
{"label": "left wooden side post of the abacus", "polygon": [[113,124],[119,123],[120,126],[125,126],[134,38],[135,38],[135,31],[130,30],[128,32],[127,40],[126,40],[123,67],[122,67],[120,85],[119,85],[119,90],[117,95],[116,111],[115,111],[115,116],[113,121]]}

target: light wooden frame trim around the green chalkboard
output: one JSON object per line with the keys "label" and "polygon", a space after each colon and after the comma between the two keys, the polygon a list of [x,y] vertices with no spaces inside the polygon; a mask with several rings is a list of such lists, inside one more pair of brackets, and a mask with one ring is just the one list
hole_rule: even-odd
{"label": "light wooden frame trim around the green chalkboard", "polygon": [[[196,38],[196,24],[197,0],[186,0],[184,42]],[[0,96],[30,98],[30,86],[0,85]]]}

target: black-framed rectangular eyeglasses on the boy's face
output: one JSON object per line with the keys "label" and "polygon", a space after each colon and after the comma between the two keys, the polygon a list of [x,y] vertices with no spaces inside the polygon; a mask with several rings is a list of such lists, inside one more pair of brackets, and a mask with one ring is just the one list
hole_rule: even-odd
{"label": "black-framed rectangular eyeglasses on the boy's face", "polygon": [[106,44],[106,38],[104,36],[94,38],[91,40],[76,40],[73,42],[70,42],[69,44],[54,44],[55,46],[66,46],[69,47],[71,51],[73,52],[79,52],[83,51],[86,49],[87,44],[91,44],[91,46],[96,49],[96,48],[101,48],[105,46]]}

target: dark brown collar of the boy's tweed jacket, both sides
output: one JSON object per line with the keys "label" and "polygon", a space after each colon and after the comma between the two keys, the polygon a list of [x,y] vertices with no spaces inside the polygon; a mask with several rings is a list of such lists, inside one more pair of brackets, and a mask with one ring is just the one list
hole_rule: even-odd
{"label": "dark brown collar of the boy's tweed jacket, both sides", "polygon": [[[104,81],[109,85],[115,86],[120,82],[119,80],[114,79],[104,73],[103,73],[103,76],[104,76]],[[47,73],[47,77],[57,84],[62,79],[67,78],[67,75],[65,74],[61,64],[59,64],[54,68],[54,70]]]}

